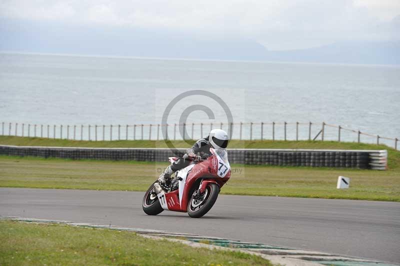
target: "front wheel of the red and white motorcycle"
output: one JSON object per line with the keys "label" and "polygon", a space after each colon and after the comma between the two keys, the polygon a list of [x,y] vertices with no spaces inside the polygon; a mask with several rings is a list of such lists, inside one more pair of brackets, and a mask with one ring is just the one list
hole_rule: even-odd
{"label": "front wheel of the red and white motorcycle", "polygon": [[218,193],[219,186],[215,183],[208,183],[202,194],[190,198],[187,204],[187,214],[193,218],[203,216],[214,205]]}

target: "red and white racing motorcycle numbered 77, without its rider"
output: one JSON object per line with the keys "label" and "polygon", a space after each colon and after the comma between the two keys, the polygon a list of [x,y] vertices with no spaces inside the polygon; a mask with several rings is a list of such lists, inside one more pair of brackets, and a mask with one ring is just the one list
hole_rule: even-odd
{"label": "red and white racing motorcycle numbered 77, without its rider", "polygon": [[[175,172],[166,184],[155,181],[142,200],[143,211],[157,215],[163,210],[187,212],[199,218],[214,205],[220,188],[230,178],[225,149],[210,148],[211,156],[193,159],[187,167]],[[172,163],[177,157],[169,157]]]}

